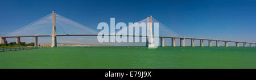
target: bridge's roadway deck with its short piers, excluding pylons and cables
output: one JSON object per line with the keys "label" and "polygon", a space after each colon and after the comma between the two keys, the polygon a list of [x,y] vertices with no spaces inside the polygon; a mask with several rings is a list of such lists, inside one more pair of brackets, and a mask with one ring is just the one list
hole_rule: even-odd
{"label": "bridge's roadway deck with its short piers, excluding pylons and cables", "polygon": [[[56,35],[56,36],[97,36],[98,34],[65,34],[65,35]],[[146,35],[108,35],[108,36],[133,36],[133,37],[147,37]],[[0,43],[5,43],[6,38],[17,38],[16,42],[19,45],[20,43],[20,37],[35,37],[35,47],[38,45],[38,37],[52,37],[52,35],[21,35],[21,36],[8,36],[8,37],[0,37]],[[153,37],[159,37],[160,38],[160,45],[164,46],[164,38],[172,38],[172,46],[175,47],[176,40],[180,39],[180,46],[181,46],[181,40],[183,40],[183,46],[185,46],[184,39],[191,39],[191,46],[195,46],[194,40],[200,40],[200,46],[203,45],[203,41],[209,41],[208,46],[212,46],[212,41],[216,41],[216,46],[220,46],[219,42],[225,42],[225,47],[228,47],[228,42],[234,42],[236,43],[236,46],[239,47],[239,43],[243,43],[243,47],[246,47],[246,43],[250,44],[250,47],[253,47],[253,44],[256,46],[255,42],[241,42],[241,41],[225,41],[220,39],[204,39],[204,38],[186,38],[186,37],[163,37],[163,36],[153,36]]]}

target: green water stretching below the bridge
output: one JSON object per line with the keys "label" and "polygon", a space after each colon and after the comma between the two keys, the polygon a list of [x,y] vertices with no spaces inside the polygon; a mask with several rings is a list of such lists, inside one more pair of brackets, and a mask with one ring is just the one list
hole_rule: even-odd
{"label": "green water stretching below the bridge", "polygon": [[58,47],[0,52],[0,68],[256,68],[256,47]]}

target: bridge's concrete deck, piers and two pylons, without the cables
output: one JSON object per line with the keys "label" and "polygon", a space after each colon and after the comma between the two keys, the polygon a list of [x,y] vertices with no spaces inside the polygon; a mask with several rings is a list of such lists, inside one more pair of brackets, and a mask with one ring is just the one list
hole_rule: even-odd
{"label": "bridge's concrete deck, piers and two pylons, without the cables", "polygon": [[[57,47],[57,37],[58,36],[97,36],[98,34],[66,34],[66,35],[57,35],[56,34],[56,14],[54,11],[52,11],[52,35],[22,35],[22,36],[6,36],[6,37],[0,37],[0,43],[6,43],[6,38],[16,38],[17,45],[20,45],[20,37],[34,37],[35,41],[35,47],[38,47],[38,37],[52,37],[52,43],[51,47]],[[148,19],[148,18],[147,18]],[[147,20],[149,22],[149,19]],[[151,16],[151,23],[152,23],[152,16]],[[151,29],[152,30],[152,29]],[[250,47],[253,47],[253,45],[256,46],[255,42],[240,42],[240,41],[225,41],[221,39],[204,39],[204,38],[188,38],[188,37],[164,37],[164,36],[153,36],[150,35],[108,35],[108,36],[133,36],[133,37],[150,37],[151,39],[153,37],[159,37],[160,38],[160,46],[164,47],[164,39],[171,38],[171,46],[176,46],[176,39],[180,40],[180,46],[185,47],[185,39],[191,40],[191,46],[195,46],[195,40],[200,41],[200,46],[204,47],[204,41],[208,41],[208,46],[212,47],[212,42],[216,42],[216,46],[220,47],[220,42],[225,43],[225,47],[228,47],[228,43],[233,42],[236,43],[236,47],[240,47],[239,44],[242,43],[243,47],[246,47],[246,44],[249,44]],[[152,42],[151,42],[152,43]],[[154,43],[154,42],[153,42]],[[146,42],[146,46],[148,46],[148,42]]]}

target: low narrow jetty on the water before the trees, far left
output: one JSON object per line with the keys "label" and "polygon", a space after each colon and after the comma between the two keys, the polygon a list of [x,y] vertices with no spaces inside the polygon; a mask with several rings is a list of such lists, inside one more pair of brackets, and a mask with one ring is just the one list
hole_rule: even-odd
{"label": "low narrow jetty on the water before the trees, far left", "polygon": [[34,50],[38,49],[39,47],[12,47],[12,48],[0,48],[0,52],[5,51],[16,51],[16,50]]}

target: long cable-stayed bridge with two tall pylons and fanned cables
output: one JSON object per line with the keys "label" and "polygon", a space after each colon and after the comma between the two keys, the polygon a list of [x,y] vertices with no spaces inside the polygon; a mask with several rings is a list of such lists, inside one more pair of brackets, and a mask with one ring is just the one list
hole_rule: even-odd
{"label": "long cable-stayed bridge with two tall pylons and fanned cables", "polygon": [[[152,19],[151,23],[159,22],[158,20]],[[138,21],[138,23],[148,23],[148,18]],[[6,43],[6,38],[16,38],[16,43],[20,44],[21,37],[34,37],[35,47],[38,47],[38,37],[52,37],[51,47],[57,47],[57,37],[60,36],[97,36],[96,30],[90,29],[84,25],[76,23],[75,21],[69,20],[64,16],[58,15],[55,12],[44,16],[43,18],[34,21],[14,32],[6,34],[0,37],[0,43]],[[185,40],[191,40],[191,46],[195,46],[195,40],[200,41],[200,46],[204,46],[204,41],[208,41],[208,46],[212,47],[212,42],[216,42],[216,46],[220,46],[220,42],[224,42],[225,47],[228,47],[229,42],[236,43],[236,47],[242,43],[243,47],[249,44],[250,47],[256,46],[255,42],[241,42],[241,41],[226,41],[222,39],[205,39],[205,38],[191,38],[191,37],[180,37],[179,34],[169,29],[167,26],[159,23],[159,36],[148,36],[148,35],[108,35],[108,36],[133,36],[133,37],[158,37],[160,38],[160,46],[164,46],[164,39],[171,38],[171,46],[176,46],[176,40],[179,40],[179,46],[185,47]],[[148,42],[146,42],[146,46]]]}

